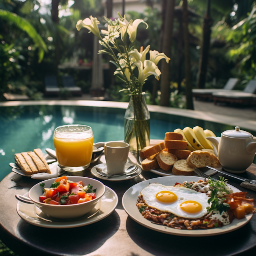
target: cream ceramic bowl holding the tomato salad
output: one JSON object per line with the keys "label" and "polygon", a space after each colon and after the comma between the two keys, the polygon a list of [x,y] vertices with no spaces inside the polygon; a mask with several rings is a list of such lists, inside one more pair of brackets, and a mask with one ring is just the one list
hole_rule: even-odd
{"label": "cream ceramic bowl holding the tomato salad", "polygon": [[68,180],[78,182],[82,180],[83,185],[86,186],[89,183],[93,186],[92,189],[97,188],[96,190],[96,198],[92,199],[91,201],[80,203],[80,204],[68,204],[68,205],[54,205],[54,204],[45,204],[39,201],[39,196],[42,196],[42,186],[41,183],[44,183],[44,188],[50,188],[51,184],[56,180],[56,178],[52,178],[49,180],[44,180],[39,182],[35,186],[33,186],[29,192],[28,196],[33,201],[33,203],[42,210],[42,212],[50,217],[58,218],[58,219],[71,219],[71,218],[78,218],[83,216],[84,214],[90,212],[100,198],[105,193],[105,186],[102,182],[98,180],[94,180],[92,178],[87,177],[79,177],[79,176],[67,176]]}

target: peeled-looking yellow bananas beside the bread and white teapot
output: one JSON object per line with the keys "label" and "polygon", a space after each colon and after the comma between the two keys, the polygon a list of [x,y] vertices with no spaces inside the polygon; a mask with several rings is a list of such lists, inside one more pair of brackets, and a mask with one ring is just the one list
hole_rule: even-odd
{"label": "peeled-looking yellow bananas beside the bread and white teapot", "polygon": [[195,151],[202,150],[203,148],[213,149],[212,143],[206,137],[216,137],[211,130],[203,130],[200,126],[195,126],[193,129],[190,127],[184,130],[176,129],[174,132],[182,134],[183,140],[188,142],[187,150]]}

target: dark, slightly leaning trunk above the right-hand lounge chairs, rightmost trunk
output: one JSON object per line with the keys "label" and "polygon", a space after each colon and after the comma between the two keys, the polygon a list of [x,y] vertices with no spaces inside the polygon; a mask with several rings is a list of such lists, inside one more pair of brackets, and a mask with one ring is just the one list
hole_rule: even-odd
{"label": "dark, slightly leaning trunk above the right-hand lounge chairs, rightmost trunk", "polygon": [[204,15],[204,24],[203,24],[203,40],[202,40],[202,49],[201,56],[199,61],[199,71],[198,71],[198,88],[204,88],[207,74],[207,64],[208,56],[210,50],[210,38],[211,38],[211,26],[212,26],[212,17],[210,15],[210,4],[211,1],[207,1],[207,10]]}

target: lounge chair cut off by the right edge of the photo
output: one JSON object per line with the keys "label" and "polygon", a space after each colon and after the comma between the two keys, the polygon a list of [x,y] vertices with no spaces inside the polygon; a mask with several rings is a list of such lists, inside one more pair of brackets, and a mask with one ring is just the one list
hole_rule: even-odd
{"label": "lounge chair cut off by the right edge of the photo", "polygon": [[256,80],[248,82],[244,91],[214,92],[212,98],[214,104],[217,102],[230,102],[250,105],[256,99]]}

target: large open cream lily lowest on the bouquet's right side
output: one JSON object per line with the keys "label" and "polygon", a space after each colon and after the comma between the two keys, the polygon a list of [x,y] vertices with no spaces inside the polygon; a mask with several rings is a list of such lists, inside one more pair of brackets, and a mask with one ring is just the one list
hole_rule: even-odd
{"label": "large open cream lily lowest on the bouquet's right side", "polygon": [[[157,80],[159,80],[159,76],[161,74],[161,71],[158,69],[158,66],[154,64],[154,62],[150,60],[144,60],[142,63],[141,61],[138,61],[134,64],[138,67],[139,70],[139,77],[138,80],[140,82],[144,82],[148,76],[154,75]],[[144,68],[143,68],[144,66]]]}

